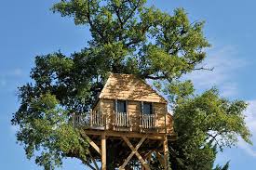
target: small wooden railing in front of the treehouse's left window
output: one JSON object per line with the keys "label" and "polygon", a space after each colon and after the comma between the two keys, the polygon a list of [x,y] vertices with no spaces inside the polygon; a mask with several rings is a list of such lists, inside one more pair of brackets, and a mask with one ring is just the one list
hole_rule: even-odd
{"label": "small wooden railing in front of the treehouse's left window", "polygon": [[114,111],[114,126],[129,127],[128,112],[115,112]]}

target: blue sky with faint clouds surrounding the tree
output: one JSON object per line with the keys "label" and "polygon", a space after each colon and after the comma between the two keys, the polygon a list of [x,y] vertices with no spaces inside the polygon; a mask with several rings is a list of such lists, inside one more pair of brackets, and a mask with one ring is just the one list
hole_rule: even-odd
{"label": "blue sky with faint clouds surrounding the tree", "polygon": [[[74,26],[48,9],[57,0],[12,0],[0,5],[0,165],[7,170],[42,169],[25,157],[16,144],[16,128],[10,125],[12,113],[19,107],[17,87],[30,81],[34,57],[58,51],[66,54],[87,45],[88,29]],[[195,81],[198,92],[216,85],[225,98],[249,102],[246,121],[256,144],[256,2],[253,0],[150,0],[169,13],[184,7],[191,20],[205,20],[205,34],[211,48],[204,65],[214,72],[194,72],[187,77]],[[239,141],[237,147],[219,153],[217,163],[231,160],[232,170],[255,169],[256,147]],[[78,161],[66,160],[63,170],[84,169]]]}

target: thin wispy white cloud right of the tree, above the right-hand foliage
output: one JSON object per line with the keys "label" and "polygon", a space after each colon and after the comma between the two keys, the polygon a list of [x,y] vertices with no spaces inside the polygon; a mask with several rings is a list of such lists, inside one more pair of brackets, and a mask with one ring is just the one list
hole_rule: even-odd
{"label": "thin wispy white cloud right of the tree, above the right-hand foliage", "polygon": [[[223,46],[208,51],[208,58],[201,66],[214,68],[213,71],[195,71],[187,75],[192,79],[196,89],[209,89],[217,86],[223,97],[233,97],[238,92],[236,82],[232,79],[238,69],[245,67],[247,63],[243,59],[235,58],[236,47]],[[201,67],[200,66],[200,67]]]}

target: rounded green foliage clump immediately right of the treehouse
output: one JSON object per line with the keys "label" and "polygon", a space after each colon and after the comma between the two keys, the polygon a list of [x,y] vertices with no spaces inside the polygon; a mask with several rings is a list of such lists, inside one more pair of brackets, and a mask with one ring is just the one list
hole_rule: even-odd
{"label": "rounded green foliage clump immediately right of the treehouse", "polygon": [[250,143],[242,113],[246,107],[243,101],[220,98],[215,88],[195,98],[181,99],[174,109],[179,139],[171,145],[176,162],[173,169],[212,169],[216,150],[236,145],[237,137]]}

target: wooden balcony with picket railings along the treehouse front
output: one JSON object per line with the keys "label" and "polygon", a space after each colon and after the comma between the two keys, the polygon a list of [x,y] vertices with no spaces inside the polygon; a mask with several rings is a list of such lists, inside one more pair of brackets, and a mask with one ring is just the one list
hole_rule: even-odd
{"label": "wooden balcony with picket railings along the treehouse front", "polygon": [[155,114],[132,114],[113,112],[104,114],[101,111],[89,111],[85,114],[74,114],[75,127],[115,131],[153,131],[157,130]]}

